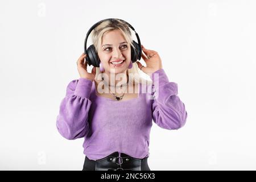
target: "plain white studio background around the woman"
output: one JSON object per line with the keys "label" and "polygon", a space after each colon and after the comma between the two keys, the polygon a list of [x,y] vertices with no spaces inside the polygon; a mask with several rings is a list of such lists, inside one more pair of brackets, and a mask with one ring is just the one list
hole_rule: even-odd
{"label": "plain white studio background around the woman", "polygon": [[179,130],[153,124],[151,170],[255,170],[255,5],[1,1],[0,169],[82,169],[84,139],[61,137],[56,117],[68,83],[79,78],[86,32],[120,18],[159,52],[188,112]]}

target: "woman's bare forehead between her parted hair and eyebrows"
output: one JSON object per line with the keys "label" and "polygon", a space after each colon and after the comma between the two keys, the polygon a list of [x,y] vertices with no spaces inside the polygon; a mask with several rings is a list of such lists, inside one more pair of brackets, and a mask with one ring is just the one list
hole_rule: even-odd
{"label": "woman's bare forehead between her parted hair and eyebrows", "polygon": [[102,36],[102,44],[119,44],[120,42],[125,41],[125,37],[120,30],[105,32]]}

